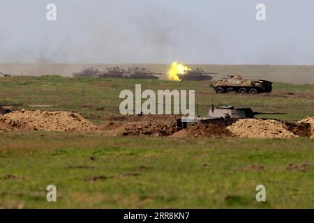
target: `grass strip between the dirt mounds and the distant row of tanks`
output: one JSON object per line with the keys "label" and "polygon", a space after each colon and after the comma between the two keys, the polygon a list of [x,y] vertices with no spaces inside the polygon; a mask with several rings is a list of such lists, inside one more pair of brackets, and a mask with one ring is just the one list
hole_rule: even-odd
{"label": "grass strip between the dirt mounds and the distant row of tanks", "polygon": [[[35,109],[29,107],[31,105],[54,105],[49,109],[80,112],[96,124],[101,123],[108,116],[119,114],[119,103],[122,101],[119,99],[119,93],[124,89],[130,89],[134,92],[135,84],[142,84],[142,91],[144,89],[154,91],[158,89],[193,89],[195,90],[198,113],[202,116],[205,116],[211,107],[213,92],[209,88],[211,82],[66,78],[59,76],[10,77],[0,80],[0,104],[17,103],[24,105],[26,109]],[[286,93],[294,93],[298,97],[288,96],[285,98],[285,95],[281,95]],[[273,115],[274,118],[286,120],[314,116],[313,85],[274,83],[274,94],[278,96],[214,94],[214,104],[251,107],[255,112],[286,112],[287,115]]]}

